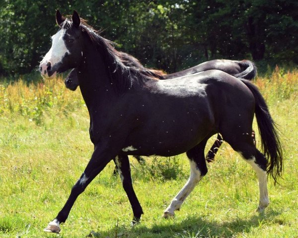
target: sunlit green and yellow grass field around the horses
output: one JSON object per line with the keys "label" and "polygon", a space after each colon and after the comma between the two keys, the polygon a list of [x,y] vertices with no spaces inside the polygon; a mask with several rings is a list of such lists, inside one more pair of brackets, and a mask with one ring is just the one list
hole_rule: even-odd
{"label": "sunlit green and yellow grass field around the horses", "polygon": [[131,158],[145,212],[141,224],[130,226],[132,210],[109,163],[79,196],[59,235],[43,229],[92,153],[87,109],[79,90],[67,90],[61,78],[0,85],[0,237],[298,237],[298,70],[277,68],[255,83],[280,125],[285,148],[284,179],[276,186],[269,179],[270,205],[263,214],[255,211],[259,192],[253,170],[224,143],[175,218],[161,215],[188,179],[186,156],[146,158],[145,165]]}

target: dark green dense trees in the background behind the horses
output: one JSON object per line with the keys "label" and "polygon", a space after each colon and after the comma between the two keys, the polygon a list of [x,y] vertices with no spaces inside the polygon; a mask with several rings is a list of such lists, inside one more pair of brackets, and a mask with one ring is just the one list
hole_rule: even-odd
{"label": "dark green dense trees in the background behind the horses", "polygon": [[76,9],[118,50],[167,72],[210,59],[298,63],[297,0],[0,0],[0,75],[31,72]]}

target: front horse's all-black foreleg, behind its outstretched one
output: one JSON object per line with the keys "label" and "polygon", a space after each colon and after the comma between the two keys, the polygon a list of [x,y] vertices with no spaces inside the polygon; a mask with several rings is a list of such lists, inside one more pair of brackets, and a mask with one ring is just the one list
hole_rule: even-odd
{"label": "front horse's all-black foreleg, behind its outstretched one", "polygon": [[133,218],[132,224],[134,225],[135,223],[140,222],[141,215],[143,214],[143,210],[133,188],[128,156],[127,155],[116,156],[116,158],[114,159],[114,162],[118,169],[123,188],[128,196],[128,199],[133,209],[134,218]]}

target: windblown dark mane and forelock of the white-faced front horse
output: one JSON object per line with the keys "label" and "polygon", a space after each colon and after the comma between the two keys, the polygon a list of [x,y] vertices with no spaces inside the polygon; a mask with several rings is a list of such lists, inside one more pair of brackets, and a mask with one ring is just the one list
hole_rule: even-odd
{"label": "windblown dark mane and forelock of the white-faced front horse", "polygon": [[[161,70],[154,70],[144,67],[139,60],[133,56],[118,52],[113,42],[109,41],[99,35],[99,31],[89,26],[86,20],[80,18],[81,30],[89,40],[94,44],[96,49],[103,56],[105,63],[107,64],[109,77],[111,83],[113,83],[119,92],[123,92],[125,89],[132,87],[134,79],[149,80],[160,79],[163,73]],[[63,24],[63,28],[69,28],[72,26],[72,21],[66,20]]]}

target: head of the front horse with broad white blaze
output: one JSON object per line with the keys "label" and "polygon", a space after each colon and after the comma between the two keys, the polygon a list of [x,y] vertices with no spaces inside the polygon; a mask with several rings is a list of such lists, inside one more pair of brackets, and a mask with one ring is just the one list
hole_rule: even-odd
{"label": "head of the front horse with broad white blaze", "polygon": [[56,21],[60,29],[52,36],[52,47],[40,62],[40,72],[44,78],[51,79],[56,73],[75,68],[82,60],[80,18],[76,11],[72,21],[56,11]]}

